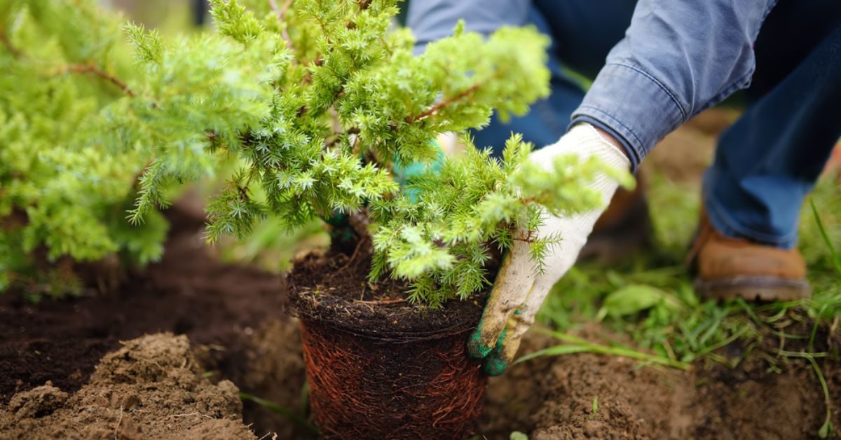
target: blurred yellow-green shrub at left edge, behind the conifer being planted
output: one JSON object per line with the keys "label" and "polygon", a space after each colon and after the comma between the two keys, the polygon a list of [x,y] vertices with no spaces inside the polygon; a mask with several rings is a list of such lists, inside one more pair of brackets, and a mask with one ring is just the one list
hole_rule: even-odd
{"label": "blurred yellow-green shrub at left edge, behind the conifer being planted", "polygon": [[145,156],[112,154],[103,133],[104,115],[131,93],[116,77],[130,70],[118,39],[118,20],[94,2],[0,7],[0,291],[72,293],[67,258],[142,264],[161,253],[159,214],[124,221]]}

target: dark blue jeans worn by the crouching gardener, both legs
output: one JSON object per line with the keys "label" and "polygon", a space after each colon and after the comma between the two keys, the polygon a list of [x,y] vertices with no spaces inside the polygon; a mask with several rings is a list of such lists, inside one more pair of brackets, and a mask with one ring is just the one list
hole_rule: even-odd
{"label": "dark blue jeans worn by the crouching gardener, both legs", "polygon": [[[476,145],[502,146],[511,131],[537,147],[557,141],[584,97],[564,66],[595,77],[630,24],[634,4],[535,1],[529,20],[553,40],[552,95],[508,124],[494,117],[474,133]],[[841,2],[780,0],[754,48],[748,108],[718,141],[704,204],[722,234],[791,248],[801,204],[841,136]]]}

